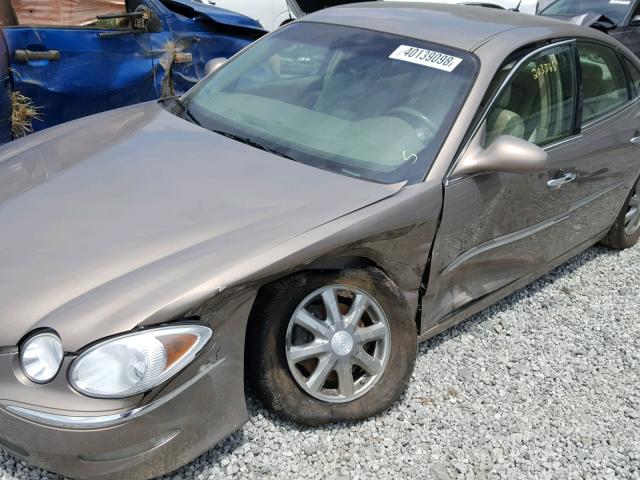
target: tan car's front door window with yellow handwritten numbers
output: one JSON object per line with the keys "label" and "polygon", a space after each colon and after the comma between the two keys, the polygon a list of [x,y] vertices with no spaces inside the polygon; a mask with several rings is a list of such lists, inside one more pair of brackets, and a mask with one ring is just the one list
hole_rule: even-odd
{"label": "tan car's front door window with yellow handwritten numbers", "polygon": [[487,116],[485,146],[500,135],[546,145],[572,133],[576,99],[570,46],[549,48],[515,71]]}

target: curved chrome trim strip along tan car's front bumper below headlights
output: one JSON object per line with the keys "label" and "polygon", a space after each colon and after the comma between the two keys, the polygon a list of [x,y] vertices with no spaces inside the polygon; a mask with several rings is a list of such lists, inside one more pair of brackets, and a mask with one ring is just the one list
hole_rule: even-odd
{"label": "curved chrome trim strip along tan car's front bumper below headlights", "polygon": [[112,415],[98,415],[98,416],[73,416],[73,415],[58,415],[55,413],[42,412],[40,410],[32,410],[29,408],[19,407],[17,405],[8,405],[6,410],[13,415],[31,420],[36,423],[48,425],[52,427],[70,428],[70,429],[96,429],[113,427],[122,423],[129,422],[136,418],[141,417],[162,405],[173,400],[189,387],[194,385],[202,377],[206,376],[214,368],[218,367],[225,361],[224,358],[218,360],[215,363],[210,363],[202,367],[200,372],[189,381],[183,383],[175,390],[171,391],[167,395],[160,397],[147,405],[127,410],[126,412],[114,413]]}

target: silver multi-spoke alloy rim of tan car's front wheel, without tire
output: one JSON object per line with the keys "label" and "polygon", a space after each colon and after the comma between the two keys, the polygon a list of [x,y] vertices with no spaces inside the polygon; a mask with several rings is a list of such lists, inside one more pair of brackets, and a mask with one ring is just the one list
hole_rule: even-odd
{"label": "silver multi-spoke alloy rim of tan car's front wheel, without tire", "polygon": [[368,392],[389,360],[389,322],[366,292],[320,288],[300,302],[287,327],[286,358],[298,385],[319,400],[342,403]]}

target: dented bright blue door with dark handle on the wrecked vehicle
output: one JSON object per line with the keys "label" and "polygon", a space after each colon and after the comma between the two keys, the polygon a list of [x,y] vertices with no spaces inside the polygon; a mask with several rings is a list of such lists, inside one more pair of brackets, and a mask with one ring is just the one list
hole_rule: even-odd
{"label": "dented bright blue door with dark handle on the wrecked vehicle", "polygon": [[122,22],[3,29],[14,91],[35,108],[27,116],[34,131],[157,97],[149,34]]}

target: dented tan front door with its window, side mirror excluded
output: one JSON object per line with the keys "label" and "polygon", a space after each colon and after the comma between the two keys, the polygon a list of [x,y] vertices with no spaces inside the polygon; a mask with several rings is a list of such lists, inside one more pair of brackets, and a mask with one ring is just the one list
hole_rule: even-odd
{"label": "dented tan front door with its window, side mirror excluded", "polygon": [[428,329],[473,302],[539,271],[580,242],[569,221],[576,192],[577,75],[572,43],[506,65],[506,81],[475,133],[488,146],[522,138],[549,155],[541,173],[450,177],[434,245],[422,325]]}

